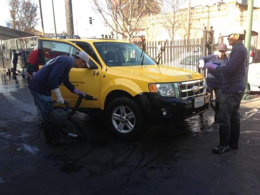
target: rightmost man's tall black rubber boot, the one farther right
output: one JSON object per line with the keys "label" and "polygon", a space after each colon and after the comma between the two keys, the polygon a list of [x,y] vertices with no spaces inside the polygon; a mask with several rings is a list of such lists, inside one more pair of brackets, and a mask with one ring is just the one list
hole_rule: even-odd
{"label": "rightmost man's tall black rubber boot, the one farther right", "polygon": [[229,147],[239,148],[239,136],[240,136],[240,121],[230,121],[230,139]]}

